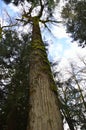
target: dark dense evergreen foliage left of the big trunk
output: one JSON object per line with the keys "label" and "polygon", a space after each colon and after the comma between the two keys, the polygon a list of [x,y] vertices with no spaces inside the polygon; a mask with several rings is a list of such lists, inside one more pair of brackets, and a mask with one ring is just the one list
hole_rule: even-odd
{"label": "dark dense evergreen foliage left of the big trunk", "polygon": [[[28,115],[28,67],[29,67],[29,35],[5,30],[0,41],[0,128],[8,129],[15,122],[16,130],[24,130]],[[14,116],[16,115],[16,116]],[[14,121],[15,120],[15,121]],[[22,123],[23,122],[23,123]]]}

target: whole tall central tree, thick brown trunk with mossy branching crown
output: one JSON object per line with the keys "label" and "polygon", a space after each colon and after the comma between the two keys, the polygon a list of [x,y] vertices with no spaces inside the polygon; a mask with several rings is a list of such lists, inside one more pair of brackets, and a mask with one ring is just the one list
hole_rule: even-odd
{"label": "whole tall central tree, thick brown trunk with mossy branching crown", "polygon": [[[4,0],[9,3],[10,1]],[[16,19],[26,25],[32,25],[32,40],[29,56],[29,109],[27,130],[63,130],[58,99],[55,93],[57,88],[53,80],[50,63],[42,40],[39,22],[47,27],[47,22],[56,22],[53,19],[53,9],[56,2],[49,0],[27,0],[31,7],[25,9],[21,19]],[[11,1],[15,5],[22,1]],[[17,3],[16,3],[17,2]],[[24,1],[23,1],[24,2]],[[38,8],[40,7],[40,9]],[[33,10],[37,10],[34,16]],[[46,16],[44,19],[44,15]],[[43,17],[43,18],[42,18]]]}

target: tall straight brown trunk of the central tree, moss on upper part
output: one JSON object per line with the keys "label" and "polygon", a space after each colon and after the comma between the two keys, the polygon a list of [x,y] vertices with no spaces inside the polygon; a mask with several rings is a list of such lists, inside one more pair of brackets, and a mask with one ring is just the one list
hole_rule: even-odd
{"label": "tall straight brown trunk of the central tree, moss on upper part", "polygon": [[51,89],[55,84],[36,18],[33,21],[32,35],[27,130],[63,130],[57,99]]}

